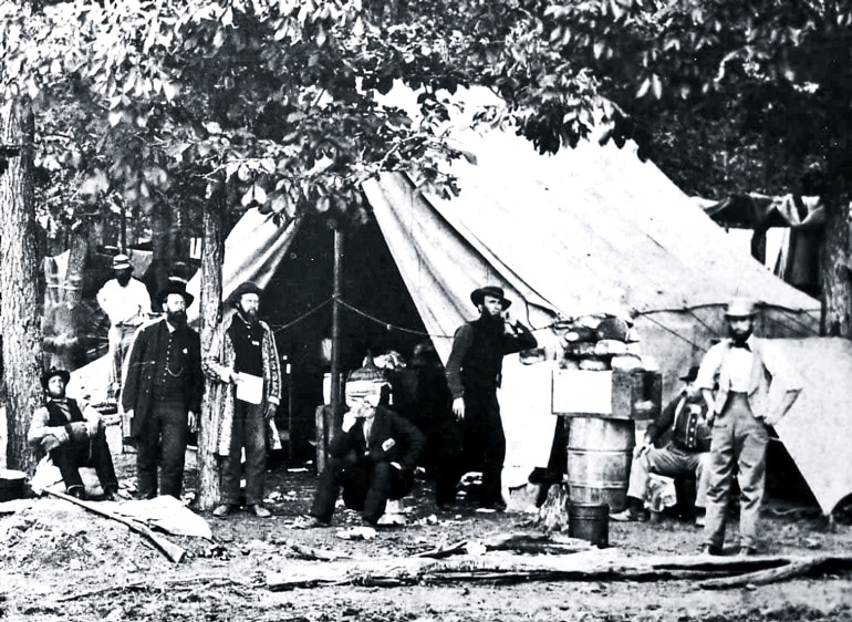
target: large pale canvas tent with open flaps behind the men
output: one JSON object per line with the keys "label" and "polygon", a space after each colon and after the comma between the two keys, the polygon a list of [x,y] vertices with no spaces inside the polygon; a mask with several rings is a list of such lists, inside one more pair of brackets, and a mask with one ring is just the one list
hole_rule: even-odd
{"label": "large pale canvas tent with open flaps behind the men", "polygon": [[[475,313],[469,292],[485,283],[507,290],[515,301],[511,311],[546,345],[557,340],[551,326],[558,318],[633,314],[643,357],[663,372],[667,394],[676,390],[676,376],[724,333],[721,311],[735,294],[763,302],[762,335],[818,341],[818,301],[738,249],[661,170],[640,162],[635,147],[582,143],[543,156],[511,131],[470,129],[469,116],[458,120],[451,136],[471,154],[450,167],[458,197],[424,194],[404,174],[384,174],[363,187],[404,291],[391,290],[368,268],[350,273],[375,298],[411,302],[418,328],[444,361],[455,329]],[[226,241],[224,298],[243,280],[272,283],[267,296],[284,301],[310,289],[311,283],[298,281],[299,270],[276,278],[293,260],[291,249],[304,225],[294,219],[277,226],[249,210]],[[300,252],[305,251],[310,248]],[[344,255],[344,271],[350,256]],[[197,276],[189,283],[196,294],[199,282]],[[325,291],[331,292],[330,282]],[[269,313],[276,305],[264,308]],[[387,315],[374,319],[404,323]],[[835,343],[831,355],[835,370],[852,372],[845,342]],[[554,367],[553,360],[533,365],[518,356],[506,360],[500,390],[508,440],[505,484],[521,484],[532,467],[547,463],[555,425]],[[822,387],[807,388],[809,398],[800,401],[807,407],[793,408],[778,427],[782,439],[794,439],[789,448],[797,464],[810,465],[803,475],[827,512],[852,491],[850,469],[813,459],[820,447],[852,443],[846,423],[852,394],[841,388],[835,385],[832,404],[822,404]],[[821,425],[812,425],[814,417]],[[845,454],[829,455],[841,460]]]}

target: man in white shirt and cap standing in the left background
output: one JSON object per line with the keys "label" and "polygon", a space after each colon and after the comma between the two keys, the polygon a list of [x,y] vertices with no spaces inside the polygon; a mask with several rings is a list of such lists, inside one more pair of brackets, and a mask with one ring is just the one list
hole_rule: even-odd
{"label": "man in white shirt and cap standing in the left background", "polygon": [[110,318],[110,387],[117,395],[133,335],[150,314],[150,294],[145,283],[133,278],[133,266],[126,255],[113,257],[113,273],[115,278],[97,292],[97,304]]}

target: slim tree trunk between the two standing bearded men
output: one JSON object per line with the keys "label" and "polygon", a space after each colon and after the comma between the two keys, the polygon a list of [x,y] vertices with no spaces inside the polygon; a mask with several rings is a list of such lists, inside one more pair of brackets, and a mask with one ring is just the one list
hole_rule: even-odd
{"label": "slim tree trunk between the two standing bearded men", "polygon": [[[214,331],[221,321],[222,206],[214,197],[204,208],[204,250],[201,253],[201,352],[210,349]],[[208,510],[219,500],[219,464],[216,458],[216,438],[211,434],[216,421],[212,392],[205,392],[201,403],[198,436],[198,509]]]}

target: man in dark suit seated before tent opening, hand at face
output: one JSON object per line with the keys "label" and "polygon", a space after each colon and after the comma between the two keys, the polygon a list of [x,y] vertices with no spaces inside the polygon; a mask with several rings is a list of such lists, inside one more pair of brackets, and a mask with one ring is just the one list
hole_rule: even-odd
{"label": "man in dark suit seated before tent opening, hand at face", "polygon": [[375,526],[388,499],[401,499],[414,486],[414,468],[425,439],[404,417],[382,406],[391,384],[374,366],[352,372],[346,381],[346,405],[341,429],[329,447],[309,516],[293,527],[326,526],[334,514],[339,488],[347,508],[361,511]]}

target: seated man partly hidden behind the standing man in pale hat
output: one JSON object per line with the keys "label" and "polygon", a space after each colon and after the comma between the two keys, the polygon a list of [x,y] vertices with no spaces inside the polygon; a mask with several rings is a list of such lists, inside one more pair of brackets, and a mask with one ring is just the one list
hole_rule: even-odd
{"label": "seated man partly hidden behind the standing man in pale hat", "polygon": [[[707,407],[700,390],[695,385],[698,367],[680,376],[686,383],[682,394],[663,410],[657,421],[648,425],[645,438],[634,452],[627,485],[627,509],[610,515],[619,521],[647,520],[644,507],[650,474],[696,479],[695,523],[704,525],[709,481],[710,428],[707,425]],[[655,443],[671,428],[672,438],[664,447]]]}

